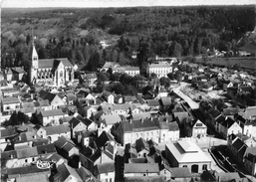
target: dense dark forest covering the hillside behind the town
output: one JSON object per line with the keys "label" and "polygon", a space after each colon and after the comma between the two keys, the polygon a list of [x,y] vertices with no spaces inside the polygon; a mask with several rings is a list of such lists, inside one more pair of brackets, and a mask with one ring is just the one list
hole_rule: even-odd
{"label": "dense dark forest covering the hillside behind the town", "polygon": [[106,61],[137,66],[155,55],[236,51],[245,41],[256,45],[255,37],[245,36],[255,29],[255,20],[253,6],[3,9],[1,66],[28,69],[32,40],[40,59],[68,58],[88,71]]}

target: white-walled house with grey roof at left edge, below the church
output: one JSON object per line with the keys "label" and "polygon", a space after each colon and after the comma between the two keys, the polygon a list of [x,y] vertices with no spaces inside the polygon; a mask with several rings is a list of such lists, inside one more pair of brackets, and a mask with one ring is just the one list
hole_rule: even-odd
{"label": "white-walled house with grey roof at left edge, below the church", "polygon": [[11,115],[12,112],[21,107],[20,100],[17,97],[3,97],[1,100],[1,112],[3,115]]}

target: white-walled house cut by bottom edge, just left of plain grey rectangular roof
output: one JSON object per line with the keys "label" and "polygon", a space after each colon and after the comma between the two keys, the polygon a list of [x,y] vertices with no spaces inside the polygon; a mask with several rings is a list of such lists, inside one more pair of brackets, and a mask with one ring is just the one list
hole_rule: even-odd
{"label": "white-walled house cut by bottom edge, just left of plain grey rectangular roof", "polygon": [[97,164],[96,176],[101,181],[115,182],[115,162]]}

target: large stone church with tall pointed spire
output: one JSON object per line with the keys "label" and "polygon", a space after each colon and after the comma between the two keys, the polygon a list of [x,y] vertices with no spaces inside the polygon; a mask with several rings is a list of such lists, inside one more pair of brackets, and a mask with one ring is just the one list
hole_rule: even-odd
{"label": "large stone church with tall pointed spire", "polygon": [[49,84],[60,87],[67,82],[73,82],[73,80],[74,68],[67,58],[39,60],[33,44],[32,67],[30,70],[30,82],[33,85]]}

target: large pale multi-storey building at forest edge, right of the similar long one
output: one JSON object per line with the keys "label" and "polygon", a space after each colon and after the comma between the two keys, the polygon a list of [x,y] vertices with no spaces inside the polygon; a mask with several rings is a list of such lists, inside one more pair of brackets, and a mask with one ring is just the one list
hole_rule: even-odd
{"label": "large pale multi-storey building at forest edge, right of the similar long one", "polygon": [[168,63],[151,64],[148,67],[149,75],[155,74],[157,78],[167,77],[172,72],[172,66]]}

